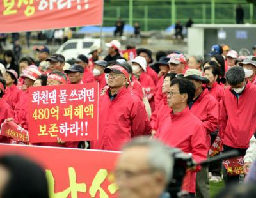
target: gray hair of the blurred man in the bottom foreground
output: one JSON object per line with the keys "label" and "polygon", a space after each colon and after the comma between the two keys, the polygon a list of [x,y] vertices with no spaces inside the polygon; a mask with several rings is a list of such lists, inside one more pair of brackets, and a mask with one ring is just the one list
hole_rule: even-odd
{"label": "gray hair of the blurred man in the bottom foreground", "polygon": [[167,146],[156,139],[148,139],[148,137],[138,137],[133,141],[125,144],[122,151],[134,146],[148,147],[148,165],[154,171],[161,171],[166,177],[166,182],[170,182],[173,176],[173,156],[168,152]]}

